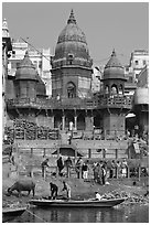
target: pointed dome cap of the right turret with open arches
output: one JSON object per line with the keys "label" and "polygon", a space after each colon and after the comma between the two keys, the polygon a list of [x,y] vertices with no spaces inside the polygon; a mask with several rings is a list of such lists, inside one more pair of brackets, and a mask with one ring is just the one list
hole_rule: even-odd
{"label": "pointed dome cap of the right turret with open arches", "polygon": [[119,60],[117,58],[115,50],[111,57],[105,66],[104,79],[107,78],[122,78],[125,79],[125,69]]}

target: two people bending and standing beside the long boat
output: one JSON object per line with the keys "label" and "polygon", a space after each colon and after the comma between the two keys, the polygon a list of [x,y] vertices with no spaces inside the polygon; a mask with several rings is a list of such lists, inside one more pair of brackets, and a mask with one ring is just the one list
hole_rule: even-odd
{"label": "two people bending and standing beside the long boat", "polygon": [[[50,199],[56,200],[56,197],[58,195],[58,186],[51,182],[50,183],[50,189],[51,189]],[[63,181],[63,189],[61,191],[66,191],[67,200],[71,199],[71,186],[65,181]]]}

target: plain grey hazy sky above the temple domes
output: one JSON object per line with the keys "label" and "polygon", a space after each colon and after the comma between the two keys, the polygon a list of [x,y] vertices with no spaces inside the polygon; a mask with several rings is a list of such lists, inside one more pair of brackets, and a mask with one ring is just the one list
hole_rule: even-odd
{"label": "plain grey hazy sky above the temple domes", "polygon": [[122,64],[133,50],[149,50],[148,2],[3,2],[2,18],[11,38],[54,53],[72,9],[95,64],[106,64],[114,47]]}

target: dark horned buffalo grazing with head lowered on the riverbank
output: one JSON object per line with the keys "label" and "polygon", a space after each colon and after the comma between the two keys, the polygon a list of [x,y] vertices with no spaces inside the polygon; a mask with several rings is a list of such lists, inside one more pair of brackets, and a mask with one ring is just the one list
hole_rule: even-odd
{"label": "dark horned buffalo grazing with head lowered on the riverbank", "polygon": [[19,196],[21,196],[22,191],[28,191],[29,194],[32,191],[34,196],[34,190],[35,190],[35,183],[32,180],[19,180],[11,188],[8,189],[8,193],[12,194],[13,191],[18,191]]}

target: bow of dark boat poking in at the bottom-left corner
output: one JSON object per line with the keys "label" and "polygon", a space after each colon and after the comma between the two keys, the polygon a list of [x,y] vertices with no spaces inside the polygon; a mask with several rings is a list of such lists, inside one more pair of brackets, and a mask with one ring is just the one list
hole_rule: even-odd
{"label": "bow of dark boat poking in at the bottom-left corner", "polygon": [[3,207],[2,208],[2,222],[8,222],[13,219],[17,216],[20,216],[24,213],[26,207]]}

